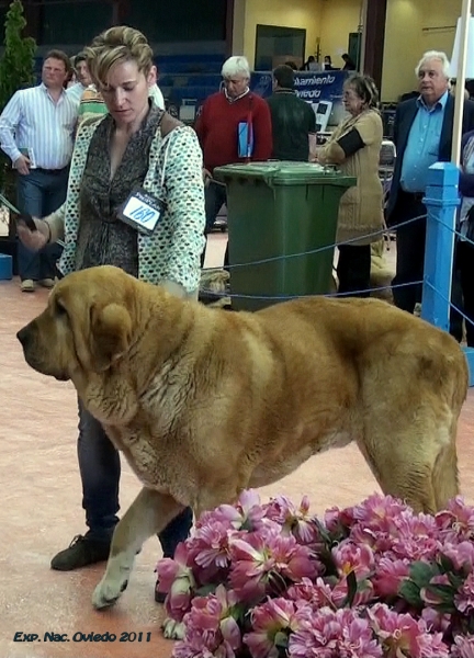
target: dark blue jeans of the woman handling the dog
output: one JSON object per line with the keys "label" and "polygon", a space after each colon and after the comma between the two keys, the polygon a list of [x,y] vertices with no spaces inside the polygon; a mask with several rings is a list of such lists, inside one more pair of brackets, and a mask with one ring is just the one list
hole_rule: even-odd
{"label": "dark blue jeans of the woman handling the dog", "polygon": [[[82,508],[86,510],[86,536],[97,542],[110,542],[119,522],[119,452],[101,423],[79,400],[79,470],[82,480]],[[165,557],[172,557],[176,547],[191,530],[192,510],[187,508],[158,535]]]}

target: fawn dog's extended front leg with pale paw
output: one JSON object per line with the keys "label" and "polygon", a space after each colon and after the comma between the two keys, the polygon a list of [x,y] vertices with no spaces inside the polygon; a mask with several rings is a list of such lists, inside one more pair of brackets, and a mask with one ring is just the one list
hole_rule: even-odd
{"label": "fawn dog's extended front leg with pale paw", "polygon": [[171,496],[142,489],[115,527],[105,574],[92,595],[94,608],[115,603],[128,583],[135,555],[143,543],[161,532],[183,509]]}

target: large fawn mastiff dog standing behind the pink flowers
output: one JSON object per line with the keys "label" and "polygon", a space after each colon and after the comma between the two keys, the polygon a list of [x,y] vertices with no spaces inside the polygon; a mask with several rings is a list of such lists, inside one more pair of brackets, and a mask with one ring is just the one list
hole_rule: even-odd
{"label": "large fawn mastiff dog standing behind the pink flowers", "polygon": [[33,368],[72,381],[143,484],[95,608],[119,599],[143,542],[185,506],[232,502],[350,441],[383,491],[416,510],[458,494],[465,358],[448,333],[384,302],[227,313],[101,266],[60,281],[18,338]]}

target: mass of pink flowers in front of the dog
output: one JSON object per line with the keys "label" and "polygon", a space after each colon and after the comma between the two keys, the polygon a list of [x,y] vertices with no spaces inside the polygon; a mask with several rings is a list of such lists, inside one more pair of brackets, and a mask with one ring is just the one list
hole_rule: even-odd
{"label": "mass of pink flowers in front of the dog", "polygon": [[159,589],[174,658],[474,658],[474,508],[371,496],[323,519],[244,491],[199,520]]}

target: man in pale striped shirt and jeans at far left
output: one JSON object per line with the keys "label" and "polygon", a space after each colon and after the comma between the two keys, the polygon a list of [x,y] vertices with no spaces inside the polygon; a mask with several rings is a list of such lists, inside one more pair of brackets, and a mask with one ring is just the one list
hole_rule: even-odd
{"label": "man in pale striped shirt and jeans at far left", "polygon": [[[42,83],[16,91],[0,115],[0,146],[18,171],[18,206],[45,217],[66,200],[77,104],[64,83],[70,73],[66,53],[50,50],[43,64]],[[21,288],[34,292],[36,282],[54,285],[57,245],[32,252],[19,241]]]}

